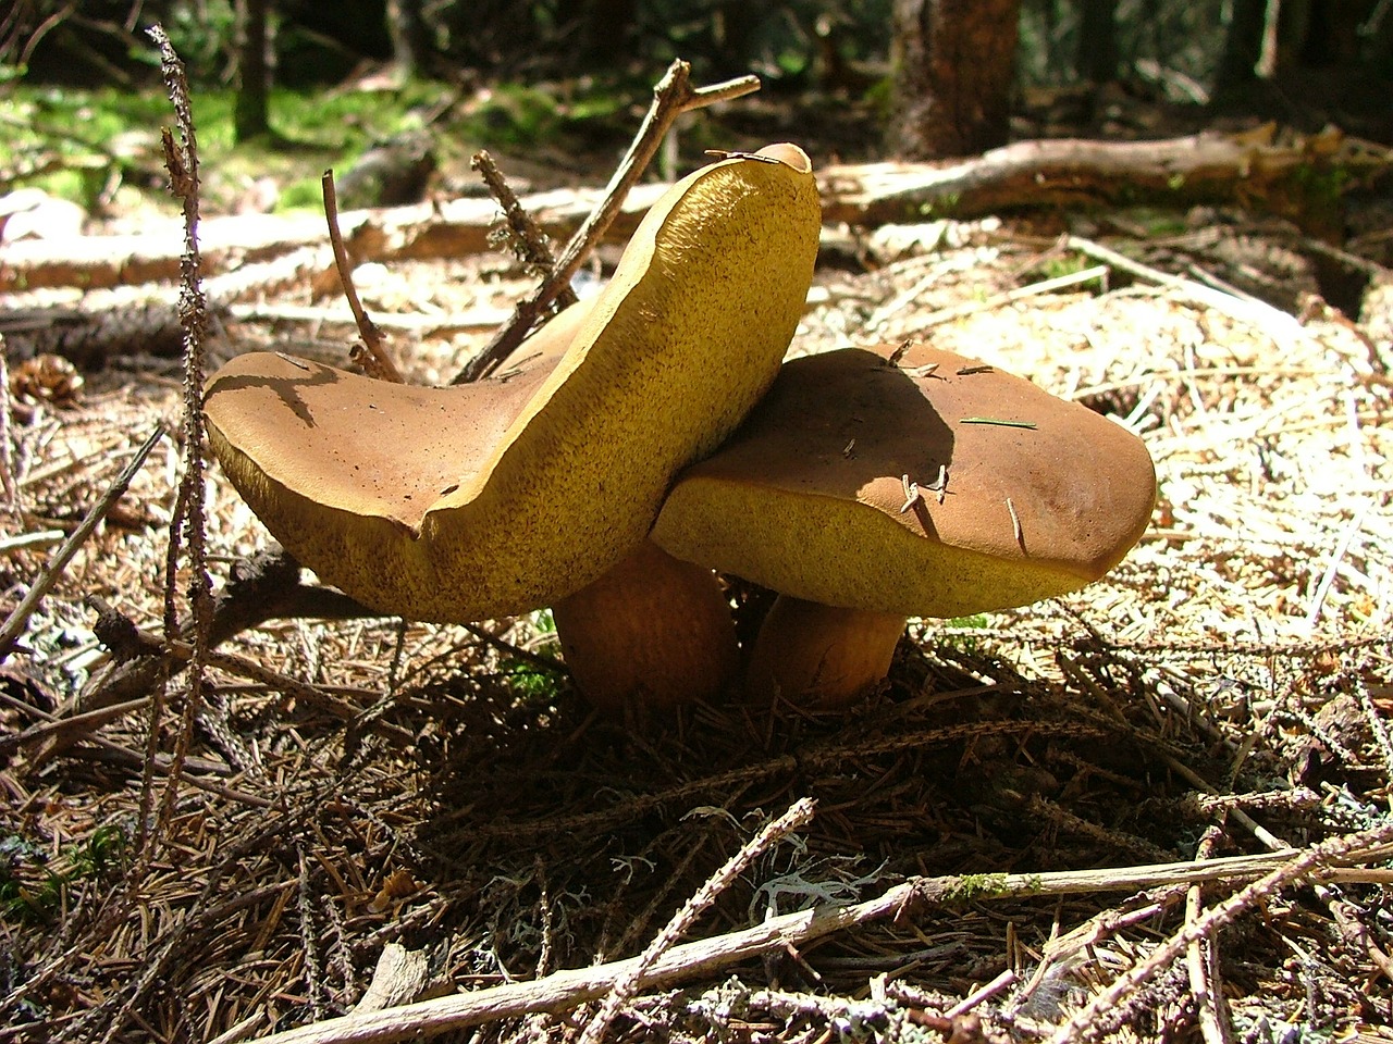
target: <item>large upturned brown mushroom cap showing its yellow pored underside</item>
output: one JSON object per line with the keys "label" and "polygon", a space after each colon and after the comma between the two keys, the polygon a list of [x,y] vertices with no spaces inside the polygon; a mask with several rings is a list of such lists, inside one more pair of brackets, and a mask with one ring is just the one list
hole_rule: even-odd
{"label": "large upturned brown mushroom cap showing its yellow pored underside", "polygon": [[677,182],[550,369],[421,388],[233,359],[205,395],[224,472],[291,554],[383,612],[479,619],[589,583],[759,400],[797,327],[818,189],[801,149],[768,152]]}

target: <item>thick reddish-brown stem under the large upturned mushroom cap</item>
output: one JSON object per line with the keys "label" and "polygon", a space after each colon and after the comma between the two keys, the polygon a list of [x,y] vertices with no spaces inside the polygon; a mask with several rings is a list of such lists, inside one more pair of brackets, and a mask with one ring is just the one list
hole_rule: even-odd
{"label": "thick reddish-brown stem under the large upturned mushroom cap", "polygon": [[575,688],[609,713],[713,700],[740,665],[716,574],[648,540],[552,617]]}

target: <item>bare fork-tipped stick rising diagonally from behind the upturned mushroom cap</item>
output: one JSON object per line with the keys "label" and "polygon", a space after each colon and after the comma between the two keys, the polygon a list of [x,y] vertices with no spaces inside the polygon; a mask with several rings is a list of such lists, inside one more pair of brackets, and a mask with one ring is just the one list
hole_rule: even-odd
{"label": "bare fork-tipped stick rising diagonally from behind the upturned mushroom cap", "polygon": [[644,168],[653,159],[653,153],[657,152],[663,135],[667,134],[667,129],[678,116],[692,109],[703,109],[709,104],[740,97],[759,89],[759,79],[756,77],[740,77],[738,79],[694,90],[688,81],[690,75],[691,65],[680,58],[667,67],[667,74],[653,88],[653,103],[649,106],[648,116],[644,117],[644,124],[638,128],[634,143],[630,145],[618,170],[610,178],[610,184],[606,187],[605,198],[599,206],[595,207],[591,216],[585,219],[585,223],[577,230],[575,235],[571,237],[571,241],[557,259],[552,274],[542,281],[542,285],[529,298],[518,303],[513,319],[495,334],[482,352],[469,359],[468,365],[454,379],[454,384],[467,384],[493,373],[508,354],[522,342],[522,338],[536,324],[536,320],[556,301],[561,288],[571,285],[571,277],[575,276],[581,267],[581,262],[589,256],[595,244],[599,242],[600,237],[605,235],[605,231],[614,221],[614,217],[618,216],[624,196],[628,195],[628,191],[642,175]]}

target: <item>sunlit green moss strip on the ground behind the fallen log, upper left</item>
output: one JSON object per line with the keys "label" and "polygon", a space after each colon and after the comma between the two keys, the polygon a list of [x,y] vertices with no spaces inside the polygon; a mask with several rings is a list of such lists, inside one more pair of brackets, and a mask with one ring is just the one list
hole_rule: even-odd
{"label": "sunlit green moss strip on the ground behind the fallen log, upper left", "polygon": [[[0,67],[0,82],[6,72]],[[14,72],[13,67],[8,72]],[[89,209],[107,191],[117,168],[125,185],[163,195],[159,131],[174,124],[163,90],[91,90],[29,85],[14,75],[11,79],[0,96],[0,175]],[[288,185],[283,207],[318,209],[318,175],[325,167],[347,170],[352,157],[373,145],[423,131],[422,114],[440,106],[444,90],[428,81],[372,92],[274,89],[269,103],[273,132],[238,145],[233,132],[235,95],[224,88],[195,86],[205,206],[216,212],[234,202],[254,178],[272,177]],[[596,131],[607,132],[609,122],[621,125],[620,136],[627,139],[632,97],[632,90],[602,82],[571,90],[501,85],[451,107],[447,117],[432,124],[430,134],[442,163],[467,156],[481,143],[535,146],[593,136]],[[6,188],[0,182],[0,191]]]}

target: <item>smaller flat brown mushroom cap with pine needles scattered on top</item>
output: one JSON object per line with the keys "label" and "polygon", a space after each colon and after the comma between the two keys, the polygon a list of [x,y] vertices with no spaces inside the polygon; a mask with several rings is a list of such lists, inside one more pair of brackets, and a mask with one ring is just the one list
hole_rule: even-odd
{"label": "smaller flat brown mushroom cap with pine needles scattered on top", "polygon": [[924,617],[1075,590],[1137,543],[1156,498],[1137,436],[975,359],[894,351],[786,363],[680,476],[653,541],[807,601]]}

